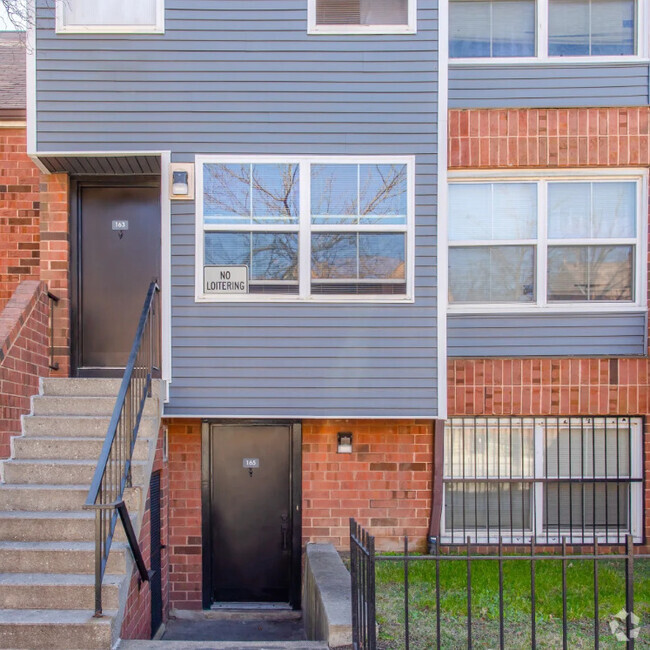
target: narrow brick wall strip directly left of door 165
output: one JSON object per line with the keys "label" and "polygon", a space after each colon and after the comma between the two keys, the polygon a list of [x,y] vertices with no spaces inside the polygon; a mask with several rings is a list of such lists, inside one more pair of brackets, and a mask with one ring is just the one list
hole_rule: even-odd
{"label": "narrow brick wall strip directly left of door 165", "polygon": [[168,420],[172,609],[201,609],[201,421]]}

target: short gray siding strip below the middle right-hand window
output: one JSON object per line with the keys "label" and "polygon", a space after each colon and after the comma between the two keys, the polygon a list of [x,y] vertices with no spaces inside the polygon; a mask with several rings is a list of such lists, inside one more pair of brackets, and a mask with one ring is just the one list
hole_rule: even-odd
{"label": "short gray siding strip below the middle right-hand window", "polygon": [[645,313],[450,314],[447,328],[449,357],[635,356],[646,351]]}

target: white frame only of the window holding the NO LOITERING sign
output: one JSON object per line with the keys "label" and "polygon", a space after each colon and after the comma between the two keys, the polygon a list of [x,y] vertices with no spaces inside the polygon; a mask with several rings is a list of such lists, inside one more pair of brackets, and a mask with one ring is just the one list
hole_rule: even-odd
{"label": "white frame only of the window holding the NO LOITERING sign", "polygon": [[[203,166],[205,164],[294,163],[299,165],[300,216],[298,225],[214,225],[205,224],[203,216]],[[407,218],[404,225],[383,224],[312,224],[311,223],[311,165],[372,164],[406,165]],[[195,295],[196,302],[319,302],[319,303],[412,303],[415,288],[415,156],[218,156],[195,158],[196,220],[195,220]],[[298,232],[298,293],[297,294],[228,294],[208,295],[203,288],[204,233],[242,231]],[[399,232],[406,237],[406,293],[400,295],[320,295],[311,293],[311,235],[314,232]]]}

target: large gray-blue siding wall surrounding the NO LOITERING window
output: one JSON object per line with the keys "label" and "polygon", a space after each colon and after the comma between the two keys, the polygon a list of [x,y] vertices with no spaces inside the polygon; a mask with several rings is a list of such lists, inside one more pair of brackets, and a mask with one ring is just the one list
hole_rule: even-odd
{"label": "large gray-blue siding wall surrounding the NO LOITERING window", "polygon": [[39,0],[38,148],[416,156],[415,304],[197,304],[172,206],[170,416],[437,414],[437,11],[412,36],[308,36],[306,0],[166,0],[162,36],[55,36]]}

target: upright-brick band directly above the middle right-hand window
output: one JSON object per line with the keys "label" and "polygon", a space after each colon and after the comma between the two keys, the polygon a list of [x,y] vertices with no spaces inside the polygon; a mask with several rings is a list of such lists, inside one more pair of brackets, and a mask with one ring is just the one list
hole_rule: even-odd
{"label": "upright-brick band directly above the middle right-hand window", "polygon": [[449,111],[449,168],[650,165],[650,107]]}

